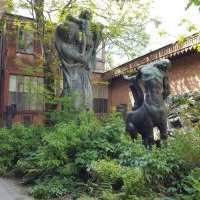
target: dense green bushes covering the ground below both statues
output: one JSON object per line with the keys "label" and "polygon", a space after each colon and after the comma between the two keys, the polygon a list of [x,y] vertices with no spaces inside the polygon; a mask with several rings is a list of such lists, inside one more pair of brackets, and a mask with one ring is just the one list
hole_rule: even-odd
{"label": "dense green bushes covering the ground below both statues", "polygon": [[70,112],[51,128],[0,129],[1,175],[21,177],[38,199],[199,199],[198,128],[149,151],[124,133],[118,114],[100,121]]}

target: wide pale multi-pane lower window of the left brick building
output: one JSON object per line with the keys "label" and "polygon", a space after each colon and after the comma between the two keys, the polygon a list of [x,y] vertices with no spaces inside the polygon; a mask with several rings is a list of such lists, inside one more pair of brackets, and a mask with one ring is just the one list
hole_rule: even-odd
{"label": "wide pale multi-pane lower window of the left brick building", "polygon": [[16,104],[18,111],[43,111],[43,88],[43,78],[11,75],[9,80],[9,104]]}

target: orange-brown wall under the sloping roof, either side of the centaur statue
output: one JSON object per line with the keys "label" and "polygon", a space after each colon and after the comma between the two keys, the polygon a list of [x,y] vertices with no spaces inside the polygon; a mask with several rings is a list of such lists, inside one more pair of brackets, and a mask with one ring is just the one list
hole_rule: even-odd
{"label": "orange-brown wall under the sloping roof, either side of the centaur statue", "polygon": [[[172,67],[169,70],[171,94],[200,91],[200,53],[190,53],[171,59]],[[119,104],[127,104],[131,108],[129,84],[122,77],[110,80],[109,110]]]}

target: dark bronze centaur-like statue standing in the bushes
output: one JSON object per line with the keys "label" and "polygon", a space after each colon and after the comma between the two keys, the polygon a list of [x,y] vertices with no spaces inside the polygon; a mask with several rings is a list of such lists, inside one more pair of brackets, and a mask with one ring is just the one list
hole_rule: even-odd
{"label": "dark bronze centaur-like statue standing in the bushes", "polygon": [[[167,70],[171,63],[168,59],[144,65],[135,76],[127,77],[131,81],[130,89],[135,104],[127,113],[126,130],[132,139],[140,133],[146,147],[154,143],[153,129],[157,127],[161,139],[167,139],[167,109],[165,99],[170,94]],[[160,142],[157,143],[160,145]]]}

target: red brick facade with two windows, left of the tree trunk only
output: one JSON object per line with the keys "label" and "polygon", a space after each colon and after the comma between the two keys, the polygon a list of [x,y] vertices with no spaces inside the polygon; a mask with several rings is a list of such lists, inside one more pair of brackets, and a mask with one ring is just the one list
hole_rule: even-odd
{"label": "red brick facade with two windows, left of the tree trunk only", "polygon": [[[1,21],[1,125],[5,125],[11,105],[16,105],[13,122],[43,121],[44,100],[36,92],[43,86],[43,73],[37,67],[42,50],[33,32],[25,31],[25,25],[30,23],[29,18],[11,14],[4,15]],[[38,72],[33,72],[36,67]]]}

